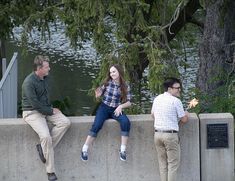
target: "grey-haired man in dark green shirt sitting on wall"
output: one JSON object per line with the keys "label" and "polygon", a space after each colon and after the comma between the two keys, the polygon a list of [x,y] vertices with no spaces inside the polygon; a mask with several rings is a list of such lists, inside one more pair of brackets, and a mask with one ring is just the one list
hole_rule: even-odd
{"label": "grey-haired man in dark green shirt sitting on wall", "polygon": [[[40,138],[36,145],[40,159],[45,163],[48,180],[57,180],[54,167],[54,148],[70,127],[70,120],[49,101],[48,74],[49,59],[38,55],[34,59],[34,71],[22,85],[23,120],[28,123]],[[49,132],[47,121],[54,127]]]}

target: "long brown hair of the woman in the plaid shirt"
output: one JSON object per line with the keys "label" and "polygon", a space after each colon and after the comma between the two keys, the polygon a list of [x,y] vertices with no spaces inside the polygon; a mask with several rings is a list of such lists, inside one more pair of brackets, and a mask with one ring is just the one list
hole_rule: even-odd
{"label": "long brown hair of the woman in the plaid shirt", "polygon": [[123,71],[123,68],[121,65],[114,64],[109,67],[108,73],[107,73],[105,81],[104,81],[104,85],[107,86],[109,80],[112,80],[112,78],[110,76],[110,72],[109,72],[111,67],[115,67],[119,73],[119,83],[120,83],[120,89],[121,89],[121,102],[126,102],[126,100],[127,100],[127,84],[124,79],[124,71]]}

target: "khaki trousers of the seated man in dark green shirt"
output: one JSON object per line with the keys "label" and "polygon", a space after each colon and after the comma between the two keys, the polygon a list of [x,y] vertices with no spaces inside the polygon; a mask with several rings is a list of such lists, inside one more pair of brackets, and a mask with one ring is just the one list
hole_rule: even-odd
{"label": "khaki trousers of the seated man in dark green shirt", "polygon": [[[40,138],[43,154],[46,159],[45,166],[47,173],[55,172],[54,148],[70,127],[70,120],[62,113],[45,116],[38,111],[23,111],[23,120],[33,128]],[[54,125],[51,133],[49,132],[47,120]]]}

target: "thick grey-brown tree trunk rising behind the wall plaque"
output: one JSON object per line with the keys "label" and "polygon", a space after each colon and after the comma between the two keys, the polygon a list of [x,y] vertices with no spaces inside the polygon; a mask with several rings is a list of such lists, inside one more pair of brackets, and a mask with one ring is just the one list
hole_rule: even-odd
{"label": "thick grey-brown tree trunk rising behind the wall plaque", "polygon": [[235,1],[228,0],[227,3],[226,7],[223,0],[216,0],[206,8],[197,87],[208,95],[213,95],[216,88],[225,85],[225,75],[232,70],[230,64],[233,62],[235,47],[232,45],[235,41]]}

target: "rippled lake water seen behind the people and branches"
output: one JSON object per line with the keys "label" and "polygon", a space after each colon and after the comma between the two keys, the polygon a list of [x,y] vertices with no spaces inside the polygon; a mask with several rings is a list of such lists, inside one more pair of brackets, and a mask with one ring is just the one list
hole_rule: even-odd
{"label": "rippled lake water seen behind the people and branches", "polygon": [[[33,41],[27,47],[28,54],[22,55],[22,48],[19,45],[19,34],[21,29],[14,32],[14,40],[7,43],[7,59],[18,52],[18,100],[21,101],[21,85],[26,75],[32,71],[32,62],[36,55],[43,54],[50,58],[50,80],[51,100],[70,100],[69,114],[91,115],[95,108],[93,96],[88,95],[92,87],[92,80],[99,71],[99,58],[92,48],[92,42],[84,42],[82,50],[74,50],[70,47],[65,37],[63,26],[58,26],[57,31],[52,29],[51,39],[45,43],[40,39],[40,33],[33,32]],[[196,51],[192,54],[189,50],[189,68],[179,67],[184,87],[183,102],[191,99],[190,89],[195,87],[196,73],[198,70],[198,56]],[[154,95],[143,89],[142,105],[145,113],[150,112]]]}

